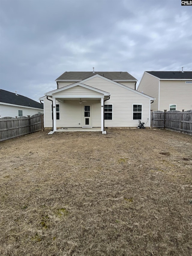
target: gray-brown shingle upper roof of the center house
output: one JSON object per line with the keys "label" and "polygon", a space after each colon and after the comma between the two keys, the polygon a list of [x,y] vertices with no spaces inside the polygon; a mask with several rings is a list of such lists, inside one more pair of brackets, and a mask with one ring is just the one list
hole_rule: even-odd
{"label": "gray-brown shingle upper roof of the center house", "polygon": [[137,80],[135,77],[131,76],[128,72],[71,72],[66,71],[56,80],[83,80],[88,77],[92,77],[96,74],[109,78],[110,80]]}

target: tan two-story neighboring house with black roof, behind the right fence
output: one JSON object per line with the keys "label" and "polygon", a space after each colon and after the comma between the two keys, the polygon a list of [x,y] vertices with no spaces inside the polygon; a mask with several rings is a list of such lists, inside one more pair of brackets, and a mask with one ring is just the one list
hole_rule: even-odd
{"label": "tan two-story neighboring house with black roof, behind the right fence", "polygon": [[152,110],[190,110],[192,71],[145,71],[137,91],[156,98]]}

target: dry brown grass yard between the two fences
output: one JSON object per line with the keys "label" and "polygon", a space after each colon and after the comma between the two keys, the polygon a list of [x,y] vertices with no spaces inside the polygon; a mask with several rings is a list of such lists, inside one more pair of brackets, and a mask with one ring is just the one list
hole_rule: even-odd
{"label": "dry brown grass yard between the two fences", "polygon": [[191,255],[192,136],[45,131],[0,153],[1,255]]}

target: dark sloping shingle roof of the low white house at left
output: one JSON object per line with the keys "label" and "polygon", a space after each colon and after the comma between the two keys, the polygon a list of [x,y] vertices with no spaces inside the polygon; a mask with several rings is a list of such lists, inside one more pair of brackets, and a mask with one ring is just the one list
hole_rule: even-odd
{"label": "dark sloping shingle roof of the low white house at left", "polygon": [[17,95],[13,92],[8,92],[8,91],[1,89],[0,90],[0,102],[43,109],[44,104],[34,101],[25,96],[22,96],[19,94],[17,94]]}

